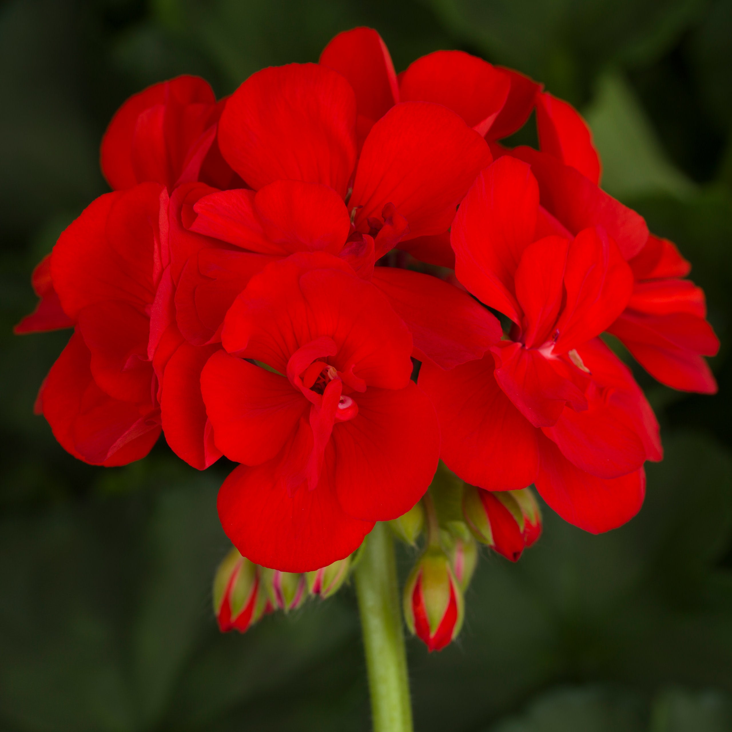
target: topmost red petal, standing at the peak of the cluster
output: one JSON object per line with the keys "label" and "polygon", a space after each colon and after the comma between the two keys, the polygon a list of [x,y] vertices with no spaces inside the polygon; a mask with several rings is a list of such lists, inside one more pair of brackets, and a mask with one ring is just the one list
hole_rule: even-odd
{"label": "topmost red petal, standing at the peak of the cluster", "polygon": [[343,31],[321,53],[320,63],[348,79],[359,115],[376,122],[399,101],[397,75],[381,36],[370,28]]}

